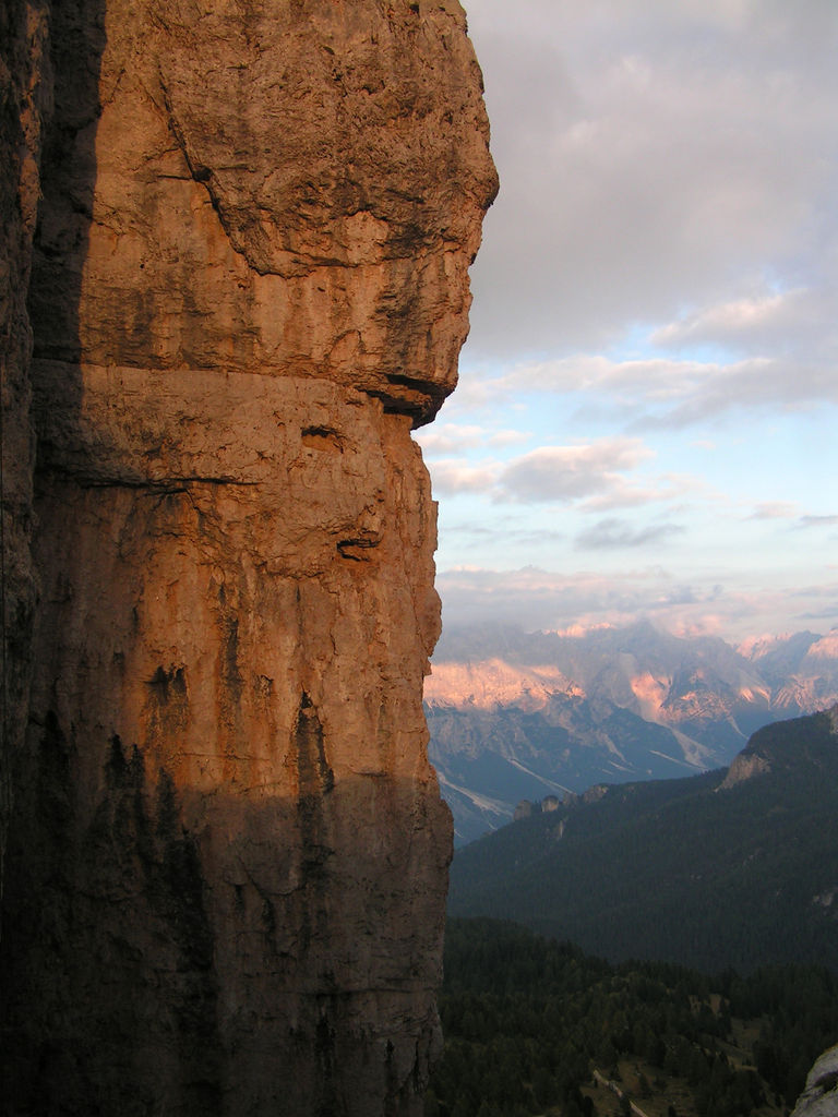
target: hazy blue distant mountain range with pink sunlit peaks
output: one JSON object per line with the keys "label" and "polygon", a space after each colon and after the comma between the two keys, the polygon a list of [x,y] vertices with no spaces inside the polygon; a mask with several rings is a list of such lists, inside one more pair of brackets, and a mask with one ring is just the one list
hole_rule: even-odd
{"label": "hazy blue distant mountain range with pink sunlit peaks", "polygon": [[730,764],[760,726],[838,701],[838,630],[734,648],[646,621],[582,636],[446,629],[425,700],[464,844],[523,799]]}

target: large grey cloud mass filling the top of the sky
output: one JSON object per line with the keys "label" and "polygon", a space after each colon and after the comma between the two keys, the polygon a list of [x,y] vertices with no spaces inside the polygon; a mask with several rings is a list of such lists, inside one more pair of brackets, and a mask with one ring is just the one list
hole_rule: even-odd
{"label": "large grey cloud mass filling the top of the sky", "polygon": [[469,28],[501,175],[475,354],[601,350],[832,273],[834,4],[475,0]]}

